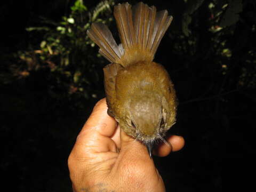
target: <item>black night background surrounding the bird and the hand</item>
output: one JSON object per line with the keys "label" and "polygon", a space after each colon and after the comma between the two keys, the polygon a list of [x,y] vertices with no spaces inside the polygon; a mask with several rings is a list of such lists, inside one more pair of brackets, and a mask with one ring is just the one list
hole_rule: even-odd
{"label": "black night background surrounding the bird and the hand", "polygon": [[[84,31],[61,36],[67,41],[66,47],[72,39],[86,45],[78,49],[77,44],[72,44],[68,58],[73,60],[68,68],[60,65],[61,53],[53,58],[46,54],[50,58],[47,62],[34,53],[35,57],[31,56],[51,33],[47,36],[44,31],[26,28],[46,25],[55,30],[56,26],[43,23],[42,17],[55,23],[70,14],[81,18],[84,13],[77,16],[70,10],[74,3],[1,2],[0,170],[10,191],[71,191],[68,155],[95,102],[105,97],[102,67],[108,62],[97,56],[98,47],[85,43],[90,40]],[[98,3],[84,1],[89,11]],[[167,9],[174,17],[155,61],[169,71],[179,98],[177,123],[170,134],[182,135],[186,140],[181,151],[164,158],[154,157],[155,164],[167,191],[221,191],[222,160],[225,170],[227,164],[234,165],[236,171],[230,170],[236,178],[238,170],[250,167],[243,164],[238,168],[236,162],[241,163],[254,153],[255,1],[145,3],[158,10]],[[209,8],[211,3],[213,8]],[[225,4],[228,5],[223,8]],[[109,15],[100,17],[104,20]],[[85,17],[79,22],[84,25],[82,22],[89,20]],[[108,25],[117,37],[115,23],[109,21]],[[22,59],[25,51],[33,62]],[[49,67],[53,62],[54,67]],[[56,68],[71,76],[57,73]],[[77,71],[83,78],[76,81]],[[83,90],[77,91],[79,87]]]}

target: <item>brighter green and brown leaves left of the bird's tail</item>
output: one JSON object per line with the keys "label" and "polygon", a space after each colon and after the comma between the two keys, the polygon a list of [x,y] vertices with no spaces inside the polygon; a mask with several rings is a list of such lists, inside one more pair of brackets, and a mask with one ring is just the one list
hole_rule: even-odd
{"label": "brighter green and brown leaves left of the bird's tail", "polygon": [[49,92],[55,98],[62,94],[87,99],[97,97],[97,90],[93,89],[99,81],[103,60],[99,54],[95,58],[93,53],[97,48],[92,49],[94,43],[87,37],[86,30],[92,22],[109,25],[113,20],[113,5],[113,0],[103,1],[88,11],[83,0],[77,0],[70,7],[70,15],[62,17],[62,21],[43,18],[45,26],[27,28],[34,35],[43,34],[43,38],[39,45],[30,45],[30,50],[15,54],[19,62],[11,66],[12,74],[20,79],[29,78],[35,71],[45,71],[46,81],[51,82]]}

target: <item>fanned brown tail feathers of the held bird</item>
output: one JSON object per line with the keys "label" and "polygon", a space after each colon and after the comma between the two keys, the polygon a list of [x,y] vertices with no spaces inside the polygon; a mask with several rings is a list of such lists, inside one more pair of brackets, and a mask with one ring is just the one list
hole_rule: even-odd
{"label": "fanned brown tail feathers of the held bird", "polygon": [[114,7],[121,44],[117,45],[107,26],[93,23],[87,35],[100,46],[99,53],[110,62],[126,67],[139,61],[153,61],[157,47],[172,16],[166,10],[156,12],[156,7],[149,7],[142,2],[131,7],[129,3]]}

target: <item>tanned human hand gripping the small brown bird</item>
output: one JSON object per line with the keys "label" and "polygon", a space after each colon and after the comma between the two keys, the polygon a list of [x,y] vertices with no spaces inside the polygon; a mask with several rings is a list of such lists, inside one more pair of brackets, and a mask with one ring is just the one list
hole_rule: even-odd
{"label": "tanned human hand gripping the small brown bird", "polygon": [[[159,145],[155,155],[180,150],[185,141],[172,135],[170,146]],[[119,129],[100,100],[78,134],[68,158],[73,191],[165,191],[161,175],[145,145]]]}

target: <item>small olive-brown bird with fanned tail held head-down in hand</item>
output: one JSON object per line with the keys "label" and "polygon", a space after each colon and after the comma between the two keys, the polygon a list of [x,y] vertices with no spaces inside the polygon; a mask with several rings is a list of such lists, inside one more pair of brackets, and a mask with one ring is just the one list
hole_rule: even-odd
{"label": "small olive-brown bird with fanned tail held head-down in hand", "polygon": [[111,63],[103,68],[108,114],[121,129],[147,146],[149,155],[175,123],[177,99],[164,67],[153,62],[157,47],[170,26],[166,10],[156,12],[142,2],[114,7],[121,44],[102,23],[92,23],[87,35]]}

